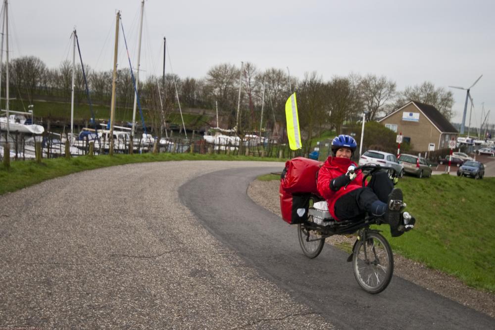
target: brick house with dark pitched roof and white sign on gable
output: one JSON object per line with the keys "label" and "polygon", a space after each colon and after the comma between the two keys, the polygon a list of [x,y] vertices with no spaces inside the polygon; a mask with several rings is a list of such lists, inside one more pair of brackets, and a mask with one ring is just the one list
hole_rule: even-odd
{"label": "brick house with dark pitched roof and white sign on gable", "polygon": [[411,101],[378,122],[397,134],[418,151],[433,151],[448,147],[449,140],[459,134],[448,120],[432,105]]}

